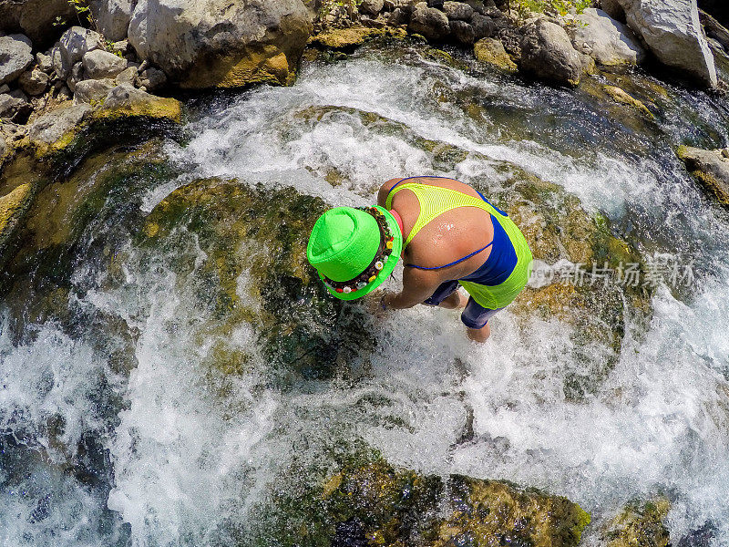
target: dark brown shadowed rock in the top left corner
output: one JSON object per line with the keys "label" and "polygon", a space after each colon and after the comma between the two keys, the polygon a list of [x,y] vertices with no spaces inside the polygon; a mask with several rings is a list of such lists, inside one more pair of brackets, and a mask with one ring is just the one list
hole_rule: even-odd
{"label": "dark brown shadowed rock in the top left corner", "polygon": [[69,23],[72,15],[67,0],[0,0],[0,27],[22,32],[36,46],[46,47],[57,36],[56,17]]}

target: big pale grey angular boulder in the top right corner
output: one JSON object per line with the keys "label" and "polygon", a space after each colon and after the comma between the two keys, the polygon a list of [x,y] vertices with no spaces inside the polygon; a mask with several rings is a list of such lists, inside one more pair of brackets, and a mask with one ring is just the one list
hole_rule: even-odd
{"label": "big pale grey angular boulder in the top right corner", "polygon": [[[664,65],[677,68],[703,85],[716,88],[714,56],[703,36],[696,0],[613,0],[632,31]],[[611,15],[618,8],[608,3]]]}

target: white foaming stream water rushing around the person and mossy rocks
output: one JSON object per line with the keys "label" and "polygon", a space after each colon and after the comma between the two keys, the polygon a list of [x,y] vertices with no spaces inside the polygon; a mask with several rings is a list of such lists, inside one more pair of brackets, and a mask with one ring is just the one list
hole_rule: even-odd
{"label": "white foaming stream water rushing around the person and mossy rocks", "polygon": [[[583,88],[398,49],[309,63],[293,88],[192,105],[189,138],[167,141],[162,167],[128,175],[82,227],[70,292],[44,293],[66,311],[38,316],[41,291],[17,288],[25,300],[0,306],[3,544],[249,544],[267,489],[294,460],[304,469],[337,439],[362,439],[410,469],[566,495],[593,514],[587,542],[623,503],[662,493],[674,541],[709,523],[714,544],[729,545],[729,215],[673,153],[729,144],[729,108],[680,87],[655,96],[646,121]],[[453,313],[398,312],[372,324],[366,371],[353,359],[344,377],[283,381],[251,325],[210,334],[194,234],[161,247],[135,236],[170,191],[200,177],[364,204],[383,181],[421,173],[498,196],[503,161],[604,214],[644,257],[693,261],[693,285],[656,289],[644,334],[628,329],[590,397],[565,395],[580,369],[573,327],[508,311],[485,346],[467,342]],[[237,283],[247,294],[247,276]],[[245,374],[210,366],[218,343],[250,356]],[[475,439],[456,445],[467,408]]]}

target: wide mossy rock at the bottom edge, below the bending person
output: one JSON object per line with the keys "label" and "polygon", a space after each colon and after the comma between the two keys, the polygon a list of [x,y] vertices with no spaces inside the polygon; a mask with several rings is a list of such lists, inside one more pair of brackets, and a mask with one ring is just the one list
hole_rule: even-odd
{"label": "wide mossy rock at the bottom edge, below the bending person", "polygon": [[344,465],[315,487],[274,501],[273,540],[282,546],[572,546],[590,523],[587,512],[560,496],[496,480],[423,475],[380,457]]}

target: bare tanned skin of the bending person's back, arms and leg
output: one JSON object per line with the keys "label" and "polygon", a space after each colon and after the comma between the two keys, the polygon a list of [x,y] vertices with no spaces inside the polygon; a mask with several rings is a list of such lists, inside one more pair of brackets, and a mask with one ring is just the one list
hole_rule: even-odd
{"label": "bare tanned skin of the bending person's back, arms and leg", "polygon": [[[385,207],[390,189],[402,179],[385,182],[377,195],[377,204]],[[422,177],[411,180],[421,184],[461,191],[481,199],[473,188],[453,179]],[[413,229],[420,214],[420,203],[415,193],[404,189],[398,191],[392,201],[392,210],[403,223],[403,240]],[[452,263],[467,256],[493,240],[494,226],[491,215],[476,207],[459,207],[443,213],[417,232],[413,240],[404,248],[402,258],[406,264],[431,268]],[[438,270],[418,270],[406,267],[403,272],[403,290],[398,294],[385,294],[384,304],[395,309],[405,309],[423,303],[436,288],[451,279],[460,279],[473,274],[486,262],[491,253],[488,247],[467,260]],[[440,306],[447,309],[463,307],[467,297],[456,292],[444,300]],[[467,331],[468,337],[479,342],[486,341],[490,335],[488,324],[481,329]]]}

